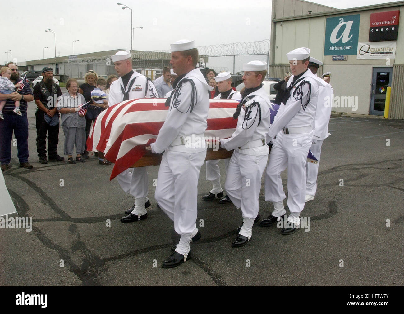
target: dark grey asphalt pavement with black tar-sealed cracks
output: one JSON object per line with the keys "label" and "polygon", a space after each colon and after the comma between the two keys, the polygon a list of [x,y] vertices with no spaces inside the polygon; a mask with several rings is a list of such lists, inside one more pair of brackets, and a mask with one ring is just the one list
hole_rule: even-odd
{"label": "dark grey asphalt pavement with black tar-sealed cracks", "polygon": [[[310,218],[307,231],[281,235],[276,225],[255,226],[251,241],[241,248],[231,247],[241,211],[231,203],[202,200],[211,189],[203,166],[197,219],[202,238],[191,243],[189,261],[163,269],[178,235],[156,207],[152,183],[158,166],[148,169],[148,218],[121,223],[134,199],[116,179],[109,181],[112,165],[99,165],[94,156],[83,164],[38,162],[35,108],[29,103],[34,168],[19,168],[12,147],[12,168],[3,173],[19,215],[32,217],[33,226],[31,232],[0,229],[0,285],[404,285],[402,120],[333,115],[331,136],[322,146],[317,194],[301,213],[307,222]],[[60,155],[63,141],[61,129]],[[219,165],[224,186],[223,160]],[[285,171],[285,191],[286,176]],[[259,206],[262,218],[273,210],[264,200],[263,185]]]}

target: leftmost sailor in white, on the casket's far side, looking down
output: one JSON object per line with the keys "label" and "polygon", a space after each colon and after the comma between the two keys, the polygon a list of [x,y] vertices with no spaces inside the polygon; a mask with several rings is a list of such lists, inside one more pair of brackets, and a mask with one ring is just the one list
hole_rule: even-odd
{"label": "leftmost sailor in white, on the casket's far side, looking down", "polygon": [[[156,98],[157,91],[150,79],[132,70],[132,57],[129,50],[118,51],[111,57],[116,73],[120,76],[109,89],[110,106],[135,98]],[[147,167],[130,168],[120,173],[116,179],[122,189],[135,197],[135,204],[125,211],[122,223],[131,223],[147,218],[146,208],[150,206],[149,178]]]}

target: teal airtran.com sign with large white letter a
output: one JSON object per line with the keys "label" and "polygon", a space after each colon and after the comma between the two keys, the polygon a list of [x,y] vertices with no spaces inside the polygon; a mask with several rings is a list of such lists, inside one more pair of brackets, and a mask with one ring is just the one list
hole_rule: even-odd
{"label": "teal airtran.com sign with large white letter a", "polygon": [[329,17],[326,21],[324,56],[356,54],[360,15]]}

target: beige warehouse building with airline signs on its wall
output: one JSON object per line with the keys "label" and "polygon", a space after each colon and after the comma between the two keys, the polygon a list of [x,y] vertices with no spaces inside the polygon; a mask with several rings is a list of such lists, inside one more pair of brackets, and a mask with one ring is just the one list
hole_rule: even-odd
{"label": "beige warehouse building with airline signs on its wall", "polygon": [[404,119],[404,1],[338,10],[299,0],[273,0],[269,76],[288,71],[286,53],[308,47],[331,72],[333,111]]}

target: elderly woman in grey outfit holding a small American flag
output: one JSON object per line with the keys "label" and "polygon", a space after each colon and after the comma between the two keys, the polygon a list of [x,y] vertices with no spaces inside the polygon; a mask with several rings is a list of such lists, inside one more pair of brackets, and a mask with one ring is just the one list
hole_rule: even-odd
{"label": "elderly woman in grey outfit holding a small American flag", "polygon": [[76,79],[69,79],[66,82],[67,93],[59,97],[57,110],[61,113],[61,126],[65,134],[64,154],[68,156],[67,162],[75,164],[73,150],[76,145],[76,161],[86,162],[81,154],[86,145],[86,118],[79,113],[78,107],[84,104],[84,96],[78,93],[78,83]]}

